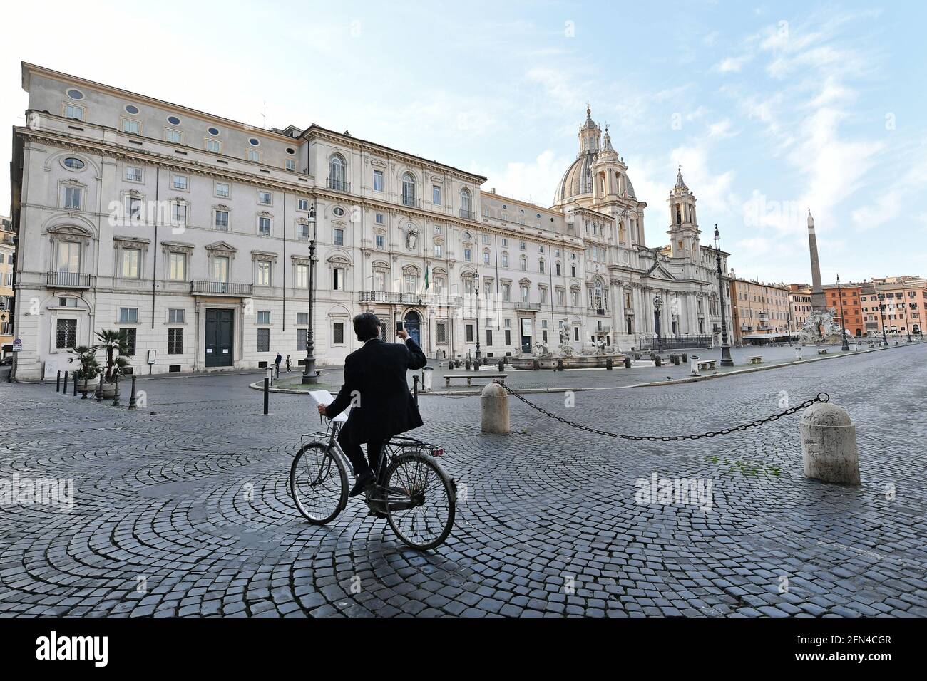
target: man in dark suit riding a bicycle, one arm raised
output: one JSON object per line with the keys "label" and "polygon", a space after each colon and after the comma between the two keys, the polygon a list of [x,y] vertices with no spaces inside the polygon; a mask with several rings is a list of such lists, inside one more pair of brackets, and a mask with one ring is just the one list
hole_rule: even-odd
{"label": "man in dark suit riding a bicycle, one arm raised", "polygon": [[[407,332],[396,332],[405,341],[402,345],[381,340],[380,320],[372,312],[354,318],[354,333],[363,346],[345,359],[344,385],[335,401],[327,407],[319,405],[319,413],[329,419],[352,407],[338,434],[338,444],[354,469],[350,497],[375,484],[383,443],[423,424],[406,371],[421,369],[427,363],[422,348]],[[363,458],[362,444],[367,445],[369,465]]]}

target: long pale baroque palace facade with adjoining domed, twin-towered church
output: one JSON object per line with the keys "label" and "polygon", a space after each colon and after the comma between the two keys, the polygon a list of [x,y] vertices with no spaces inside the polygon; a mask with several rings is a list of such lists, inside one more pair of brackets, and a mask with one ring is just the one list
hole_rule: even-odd
{"label": "long pale baroque palace facade with adjoining domed, twin-towered church", "polygon": [[[319,363],[351,317],[404,322],[430,357],[661,339],[717,344],[717,251],[681,173],[669,246],[646,246],[627,166],[591,120],[552,208],[348,132],[257,129],[23,64],[14,128],[18,380],[126,329],[135,373],[305,357],[315,235]],[[721,252],[730,330],[728,253]],[[685,339],[685,340],[683,340]],[[70,365],[73,368],[73,365]]]}

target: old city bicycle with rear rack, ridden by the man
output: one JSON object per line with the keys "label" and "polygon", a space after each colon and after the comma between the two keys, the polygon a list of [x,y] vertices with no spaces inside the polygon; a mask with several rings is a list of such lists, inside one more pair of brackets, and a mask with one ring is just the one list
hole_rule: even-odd
{"label": "old city bicycle with rear rack, ridden by the man", "polygon": [[[302,435],[290,467],[293,500],[315,525],[331,523],[348,505],[348,458],[337,443],[339,429],[330,421],[324,433]],[[443,454],[436,445],[393,437],[380,453],[375,485],[364,493],[370,515],[385,517],[413,549],[434,549],[451,534],[457,485],[436,460]]]}

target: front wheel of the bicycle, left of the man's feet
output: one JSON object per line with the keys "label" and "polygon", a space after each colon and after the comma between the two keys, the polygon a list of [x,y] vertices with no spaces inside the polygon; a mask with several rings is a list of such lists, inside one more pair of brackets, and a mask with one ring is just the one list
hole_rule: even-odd
{"label": "front wheel of the bicycle, left of the man's feet", "polygon": [[301,448],[290,467],[290,493],[310,523],[331,523],[348,503],[348,473],[341,458],[318,442]]}

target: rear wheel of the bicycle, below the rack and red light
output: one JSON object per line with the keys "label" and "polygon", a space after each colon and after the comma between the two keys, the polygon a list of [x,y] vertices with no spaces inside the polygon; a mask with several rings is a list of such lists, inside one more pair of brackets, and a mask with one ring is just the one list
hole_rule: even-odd
{"label": "rear wheel of the bicycle, below the rack and red light", "polygon": [[413,549],[434,549],[451,534],[455,486],[425,452],[400,454],[393,460],[385,496],[389,526]]}

